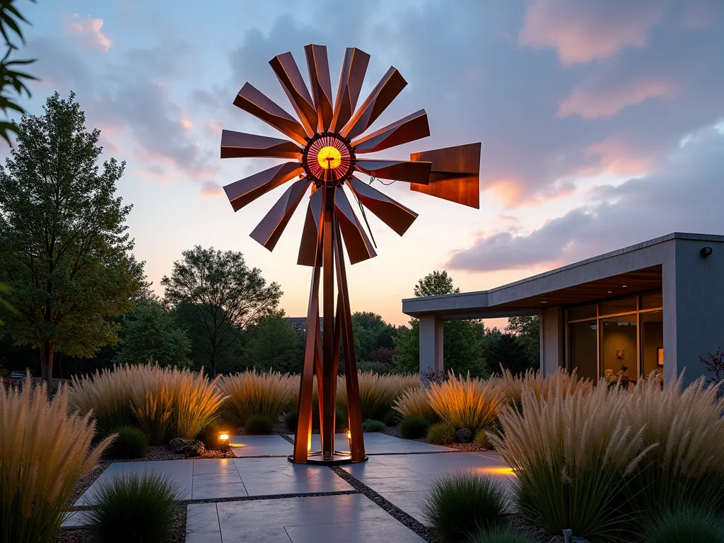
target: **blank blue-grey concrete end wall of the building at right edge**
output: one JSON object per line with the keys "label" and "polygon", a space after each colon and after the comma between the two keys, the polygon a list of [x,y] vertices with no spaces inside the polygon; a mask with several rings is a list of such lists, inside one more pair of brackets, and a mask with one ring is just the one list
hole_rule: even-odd
{"label": "blank blue-grey concrete end wall of the building at right edge", "polygon": [[[714,252],[704,257],[703,247]],[[706,358],[720,346],[724,347],[724,243],[676,240],[675,261],[664,269],[666,382],[684,368],[687,383],[707,375],[699,356]]]}

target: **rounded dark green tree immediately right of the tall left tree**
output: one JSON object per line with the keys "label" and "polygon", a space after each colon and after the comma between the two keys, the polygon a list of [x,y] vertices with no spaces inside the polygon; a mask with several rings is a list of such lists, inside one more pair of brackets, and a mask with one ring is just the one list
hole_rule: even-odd
{"label": "rounded dark green tree immediately right of the tall left tree", "polygon": [[115,361],[190,366],[191,342],[158,300],[140,303],[123,324]]}

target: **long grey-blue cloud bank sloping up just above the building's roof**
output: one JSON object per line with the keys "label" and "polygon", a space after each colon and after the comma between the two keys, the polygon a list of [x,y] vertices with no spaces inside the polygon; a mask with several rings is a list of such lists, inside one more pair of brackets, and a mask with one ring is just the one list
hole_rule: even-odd
{"label": "long grey-blue cloud bank sloping up just above the building's roof", "polygon": [[481,236],[447,263],[452,269],[498,271],[565,264],[670,232],[721,233],[724,135],[707,128],[657,164],[656,172],[594,190],[585,206],[528,235]]}

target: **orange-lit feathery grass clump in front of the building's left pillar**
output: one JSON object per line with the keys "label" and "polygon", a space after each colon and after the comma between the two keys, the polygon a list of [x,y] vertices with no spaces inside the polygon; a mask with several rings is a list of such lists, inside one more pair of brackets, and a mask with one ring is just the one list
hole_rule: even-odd
{"label": "orange-lit feathery grass clump in front of the building's left pillar", "polygon": [[435,413],[455,428],[472,432],[494,421],[502,403],[502,394],[490,380],[474,379],[450,371],[447,381],[431,383],[427,397]]}

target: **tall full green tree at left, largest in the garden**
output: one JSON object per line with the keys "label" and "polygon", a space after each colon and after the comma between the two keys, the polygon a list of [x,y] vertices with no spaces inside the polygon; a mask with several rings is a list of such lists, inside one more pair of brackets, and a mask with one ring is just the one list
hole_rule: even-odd
{"label": "tall full green tree at left, largest in the garden", "polygon": [[90,358],[117,341],[109,320],[132,310],[143,264],[130,254],[125,219],[131,206],[115,195],[125,163],[98,165],[101,132],[58,93],[45,114],[20,121],[17,149],[0,167],[0,280],[12,287],[7,332],[40,348],[50,381],[56,350]]}

